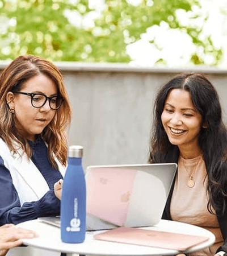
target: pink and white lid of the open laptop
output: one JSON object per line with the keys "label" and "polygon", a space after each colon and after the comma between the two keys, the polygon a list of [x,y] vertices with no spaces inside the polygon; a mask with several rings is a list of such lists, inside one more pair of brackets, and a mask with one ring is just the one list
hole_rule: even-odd
{"label": "pink and white lid of the open laptop", "polygon": [[175,163],[87,167],[87,214],[117,226],[157,224],[176,167]]}

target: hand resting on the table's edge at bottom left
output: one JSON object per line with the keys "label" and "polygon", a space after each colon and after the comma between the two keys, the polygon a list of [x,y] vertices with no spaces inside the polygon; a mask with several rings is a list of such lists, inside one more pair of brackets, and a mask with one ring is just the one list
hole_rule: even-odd
{"label": "hand resting on the table's edge at bottom left", "polygon": [[37,234],[32,230],[18,228],[14,224],[6,224],[0,227],[0,256],[7,251],[22,244],[22,238],[34,238]]}

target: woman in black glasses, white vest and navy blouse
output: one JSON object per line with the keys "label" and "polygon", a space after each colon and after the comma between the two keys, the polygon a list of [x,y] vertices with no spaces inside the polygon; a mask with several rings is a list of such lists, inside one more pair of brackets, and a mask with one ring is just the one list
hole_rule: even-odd
{"label": "woman in black glasses, white vest and navy blouse", "polygon": [[[60,214],[71,115],[62,75],[50,61],[19,56],[1,73],[0,225]],[[28,249],[13,250],[33,255]]]}

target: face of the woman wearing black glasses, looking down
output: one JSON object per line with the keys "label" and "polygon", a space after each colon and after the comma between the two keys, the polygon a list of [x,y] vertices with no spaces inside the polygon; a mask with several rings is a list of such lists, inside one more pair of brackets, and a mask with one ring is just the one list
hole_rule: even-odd
{"label": "face of the woman wearing black glasses, looking down", "polygon": [[[47,97],[57,96],[57,86],[47,76],[40,74],[23,83],[19,92],[41,93]],[[15,108],[15,124],[20,133],[31,141],[35,141],[36,134],[40,134],[52,121],[56,110],[49,106],[49,100],[41,108],[34,108],[31,97],[24,94],[7,94],[7,101]]]}

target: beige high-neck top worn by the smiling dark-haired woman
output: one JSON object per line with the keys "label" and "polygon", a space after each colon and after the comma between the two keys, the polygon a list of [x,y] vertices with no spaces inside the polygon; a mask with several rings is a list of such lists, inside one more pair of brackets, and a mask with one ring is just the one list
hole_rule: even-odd
{"label": "beige high-neck top worn by the smiling dark-haired woman", "polygon": [[[192,188],[187,185],[190,175],[195,182]],[[183,159],[180,156],[170,204],[171,217],[174,221],[185,222],[205,228],[215,234],[216,237],[214,245],[190,255],[215,255],[216,249],[223,242],[217,217],[207,210],[206,175],[205,163],[201,155],[193,159]]]}

